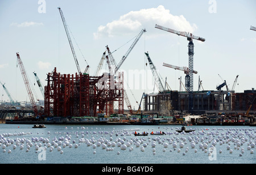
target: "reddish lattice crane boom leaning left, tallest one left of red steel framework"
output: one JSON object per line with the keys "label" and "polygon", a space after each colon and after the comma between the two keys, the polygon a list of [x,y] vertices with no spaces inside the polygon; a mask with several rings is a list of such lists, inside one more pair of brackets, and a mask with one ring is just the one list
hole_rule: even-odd
{"label": "reddish lattice crane boom leaning left, tallest one left of red steel framework", "polygon": [[16,56],[17,56],[18,63],[19,63],[19,69],[20,69],[20,72],[22,74],[22,78],[24,80],[24,84],[25,84],[26,89],[27,89],[28,97],[30,97],[30,103],[32,105],[32,109],[34,110],[35,116],[37,116],[38,115],[38,108],[36,106],[35,99],[34,99],[33,93],[32,93],[31,88],[30,88],[30,83],[28,82],[26,70],[24,69],[22,60],[20,59],[20,56],[19,56],[19,53],[16,53]]}

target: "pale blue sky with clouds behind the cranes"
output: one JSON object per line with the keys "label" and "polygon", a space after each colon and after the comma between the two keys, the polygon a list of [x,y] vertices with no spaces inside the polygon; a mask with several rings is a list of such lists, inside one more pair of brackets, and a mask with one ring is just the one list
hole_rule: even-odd
{"label": "pale blue sky with clouds behind the cranes", "polygon": [[[163,63],[188,67],[188,41],[183,36],[155,28],[162,25],[189,32],[205,39],[193,40],[193,89],[198,90],[199,76],[205,91],[216,91],[226,80],[234,91],[256,88],[256,2],[247,1],[68,1],[1,0],[0,1],[0,81],[15,101],[29,101],[16,52],[19,52],[35,99],[43,96],[36,84],[36,72],[46,85],[48,72],[56,67],[61,74],[76,74],[77,67],[57,7],[61,7],[69,27],[80,69],[89,65],[94,75],[106,50],[117,63],[135,37],[146,29],[119,71],[125,74],[125,88],[131,106],[138,109],[142,93],[158,92],[144,54],[173,91],[179,91],[183,71],[164,67]],[[115,51],[116,50],[116,51]],[[108,72],[104,62],[102,72]],[[226,90],[226,89],[225,89]],[[183,88],[184,91],[184,88]],[[1,101],[9,97],[1,87]],[[125,109],[127,109],[125,105]]]}

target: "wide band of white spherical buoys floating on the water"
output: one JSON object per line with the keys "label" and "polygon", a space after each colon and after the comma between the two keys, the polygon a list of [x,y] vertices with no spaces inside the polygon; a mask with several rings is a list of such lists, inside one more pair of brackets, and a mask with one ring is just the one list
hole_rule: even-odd
{"label": "wide band of white spherical buoys floating on the water", "polygon": [[[71,129],[73,130],[73,128]],[[229,153],[234,153],[236,152],[236,150],[241,150],[239,156],[242,156],[245,150],[250,153],[254,153],[253,148],[255,148],[256,143],[255,131],[254,133],[251,132],[253,130],[242,130],[244,131],[244,133],[239,133],[239,131],[241,130],[237,129],[213,128],[209,130],[208,128],[203,128],[195,129],[196,131],[191,133],[177,133],[175,131],[165,131],[165,133],[167,133],[166,135],[150,138],[150,136],[131,136],[134,131],[138,131],[139,129],[113,129],[108,131],[105,129],[98,130],[98,128],[96,129],[97,131],[84,131],[85,129],[88,129],[88,127],[77,127],[77,129],[81,129],[83,131],[58,131],[55,133],[58,136],[55,136],[53,139],[49,139],[49,136],[48,138],[33,136],[31,137],[31,139],[10,139],[6,137],[18,135],[24,136],[31,133],[20,133],[16,135],[5,133],[0,134],[0,144],[3,152],[6,152],[6,150],[8,150],[7,148],[13,145],[13,150],[18,147],[20,150],[26,149],[26,152],[28,152],[33,147],[35,150],[39,150],[40,147],[44,147],[46,149],[49,149],[50,152],[52,152],[53,150],[57,150],[61,154],[63,153],[64,148],[78,148],[81,144],[85,144],[86,147],[92,146],[93,154],[96,154],[95,149],[97,149],[97,147],[101,147],[102,150],[106,151],[113,151],[114,149],[116,149],[114,147],[117,147],[118,149],[123,151],[133,151],[133,147],[135,147],[135,149],[137,148],[137,150],[145,152],[146,149],[148,149],[148,147],[150,147],[151,145],[153,155],[156,154],[158,148],[160,147],[162,149],[162,152],[167,152],[167,148],[171,148],[170,152],[183,152],[183,156],[185,156],[186,153],[189,152],[189,148],[192,148],[195,153],[197,152],[196,148],[199,148],[203,152],[208,153],[208,155],[211,155],[214,147],[220,147],[222,145],[225,145],[226,150],[228,150]],[[50,135],[51,133],[48,131],[47,134]],[[64,134],[64,136],[60,136],[60,134]],[[89,135],[91,135],[91,138],[89,138]],[[95,139],[95,135],[97,137],[98,135],[101,135],[101,137]],[[118,138],[118,136],[120,136],[120,138]],[[7,152],[11,153],[11,151],[9,150]],[[222,150],[220,150],[219,152],[222,153]],[[120,153],[121,152],[118,151],[118,155]]]}

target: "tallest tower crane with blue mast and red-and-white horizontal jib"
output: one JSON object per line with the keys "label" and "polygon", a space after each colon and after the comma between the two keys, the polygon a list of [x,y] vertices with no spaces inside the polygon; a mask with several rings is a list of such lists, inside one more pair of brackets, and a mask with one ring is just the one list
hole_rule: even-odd
{"label": "tallest tower crane with blue mast and red-and-white horizontal jib", "polygon": [[199,40],[204,42],[205,39],[203,39],[202,37],[199,36],[194,36],[192,35],[192,33],[189,32],[179,32],[179,31],[175,31],[174,29],[170,29],[167,27],[163,27],[161,25],[155,24],[155,28],[161,29],[163,31],[167,31],[167,32],[171,32],[171,33],[175,33],[176,35],[179,36],[184,36],[187,37],[187,40],[189,41],[188,43],[188,70],[189,70],[189,74],[188,74],[188,82],[185,84],[187,91],[188,91],[188,98],[189,98],[189,108],[188,108],[188,112],[192,112],[193,111],[193,56],[194,56],[194,44],[193,44],[193,39],[195,40]]}

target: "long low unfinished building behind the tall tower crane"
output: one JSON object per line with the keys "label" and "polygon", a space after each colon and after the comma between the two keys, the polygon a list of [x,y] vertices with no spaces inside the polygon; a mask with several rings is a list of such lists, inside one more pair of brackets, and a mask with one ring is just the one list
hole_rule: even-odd
{"label": "long low unfinished building behind the tall tower crane", "polygon": [[[192,114],[205,113],[256,113],[256,91],[243,93],[234,91],[198,91],[193,92]],[[188,92],[168,91],[150,93],[144,97],[144,111],[159,113],[161,116],[174,112],[189,111]]]}

